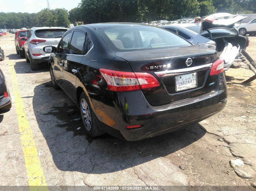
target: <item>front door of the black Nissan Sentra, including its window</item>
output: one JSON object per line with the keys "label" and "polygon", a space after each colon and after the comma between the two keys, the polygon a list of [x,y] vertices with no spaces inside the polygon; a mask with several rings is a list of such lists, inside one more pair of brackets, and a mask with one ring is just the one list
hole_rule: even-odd
{"label": "front door of the black Nissan Sentra, including its window", "polygon": [[63,67],[64,59],[68,53],[68,46],[72,31],[67,33],[59,42],[57,51],[53,53],[53,72],[56,78],[56,81],[59,86],[63,88],[64,78],[63,78]]}

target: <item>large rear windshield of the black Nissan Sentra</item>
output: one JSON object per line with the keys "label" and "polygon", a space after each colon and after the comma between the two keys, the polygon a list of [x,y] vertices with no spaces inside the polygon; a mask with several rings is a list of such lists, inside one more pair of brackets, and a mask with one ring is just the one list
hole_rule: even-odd
{"label": "large rear windshield of the black Nissan Sentra", "polygon": [[97,31],[112,50],[119,52],[191,46],[178,35],[152,26],[108,27]]}

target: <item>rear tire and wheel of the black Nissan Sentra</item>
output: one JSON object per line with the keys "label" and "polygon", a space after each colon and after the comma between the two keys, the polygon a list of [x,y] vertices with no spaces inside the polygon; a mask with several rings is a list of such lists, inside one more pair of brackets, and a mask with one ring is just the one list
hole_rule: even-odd
{"label": "rear tire and wheel of the black Nissan Sentra", "polygon": [[98,119],[91,108],[85,92],[82,92],[80,95],[79,109],[86,133],[91,137],[103,135],[105,132],[99,130]]}

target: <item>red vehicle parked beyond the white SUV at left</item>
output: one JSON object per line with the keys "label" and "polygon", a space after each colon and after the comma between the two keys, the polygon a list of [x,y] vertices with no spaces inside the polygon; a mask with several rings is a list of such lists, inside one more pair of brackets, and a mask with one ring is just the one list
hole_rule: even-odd
{"label": "red vehicle parked beyond the white SUV at left", "polygon": [[25,53],[24,53],[24,50],[22,49],[22,45],[27,40],[28,31],[29,30],[18,30],[15,33],[14,39],[15,39],[16,53],[19,54],[21,58],[25,58]]}

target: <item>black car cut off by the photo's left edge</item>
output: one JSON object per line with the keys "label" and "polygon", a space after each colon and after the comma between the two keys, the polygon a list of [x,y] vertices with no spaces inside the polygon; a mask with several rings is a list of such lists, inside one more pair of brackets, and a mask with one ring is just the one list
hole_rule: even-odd
{"label": "black car cut off by the photo's left edge", "polygon": [[5,76],[0,69],[0,112],[9,110],[12,107],[12,100],[6,85]]}

